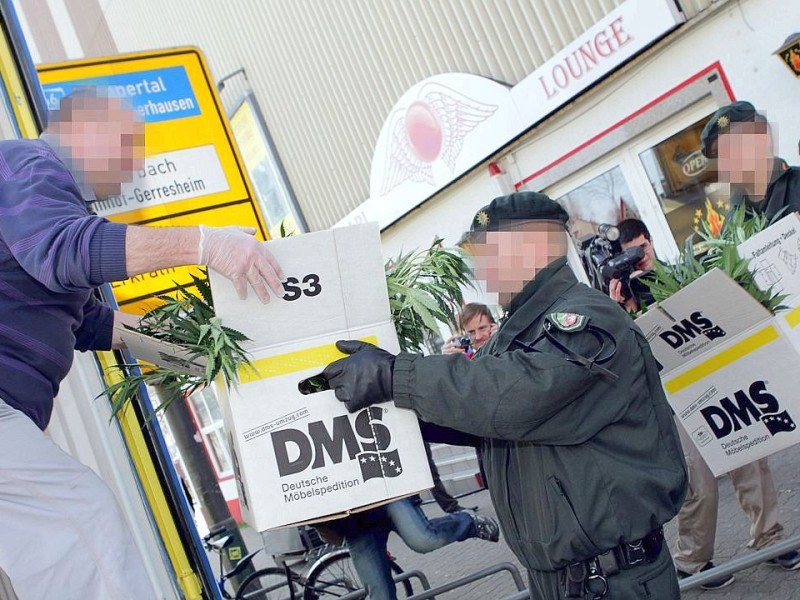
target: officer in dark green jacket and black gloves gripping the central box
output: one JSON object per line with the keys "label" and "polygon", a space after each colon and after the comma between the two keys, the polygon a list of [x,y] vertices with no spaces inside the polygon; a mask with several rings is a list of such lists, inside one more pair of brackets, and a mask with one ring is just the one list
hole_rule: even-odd
{"label": "officer in dark green jacket and black gloves gripping the central box", "polygon": [[661,529],[686,492],[675,425],[639,329],[567,266],[567,220],[533,192],[477,213],[467,247],[507,316],[473,360],[342,341],[324,375],[351,412],[393,399],[482,438],[532,598],[679,598]]}

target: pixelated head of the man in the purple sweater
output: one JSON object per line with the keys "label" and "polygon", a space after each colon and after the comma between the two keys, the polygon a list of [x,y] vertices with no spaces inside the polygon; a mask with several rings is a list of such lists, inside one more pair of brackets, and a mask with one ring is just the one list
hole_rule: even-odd
{"label": "pixelated head of the man in the purple sweater", "polygon": [[84,102],[73,109],[72,120],[57,124],[55,131],[95,193],[101,198],[117,195],[144,167],[144,123],[116,98]]}

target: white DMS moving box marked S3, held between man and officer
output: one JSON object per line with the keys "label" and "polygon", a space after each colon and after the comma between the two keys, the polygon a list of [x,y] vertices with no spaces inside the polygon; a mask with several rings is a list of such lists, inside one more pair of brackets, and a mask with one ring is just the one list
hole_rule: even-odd
{"label": "white DMS moving box marked S3, held between man and officer", "polygon": [[[251,338],[255,371],[220,389],[245,520],[258,531],[327,520],[432,486],[416,415],[393,403],[348,414],[298,383],[341,358],[340,339],[399,350],[375,224],[274,240],[284,299],[236,296],[213,275],[222,322]],[[218,386],[222,387],[222,386]]]}

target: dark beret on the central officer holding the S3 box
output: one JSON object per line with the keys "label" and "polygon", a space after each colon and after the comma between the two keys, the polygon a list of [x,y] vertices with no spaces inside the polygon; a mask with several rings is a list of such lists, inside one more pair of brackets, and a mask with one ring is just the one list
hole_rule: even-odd
{"label": "dark beret on the central officer holding the S3 box", "polygon": [[566,228],[569,215],[555,200],[539,192],[516,192],[495,198],[472,219],[470,232],[498,231],[509,221],[557,221]]}

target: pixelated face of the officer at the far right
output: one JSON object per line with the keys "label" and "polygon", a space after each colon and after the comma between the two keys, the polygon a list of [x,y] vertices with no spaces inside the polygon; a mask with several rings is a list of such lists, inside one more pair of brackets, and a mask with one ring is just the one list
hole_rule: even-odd
{"label": "pixelated face of the officer at the far right", "polygon": [[772,174],[772,138],[763,123],[734,123],[717,138],[719,180],[751,188],[766,186]]}

